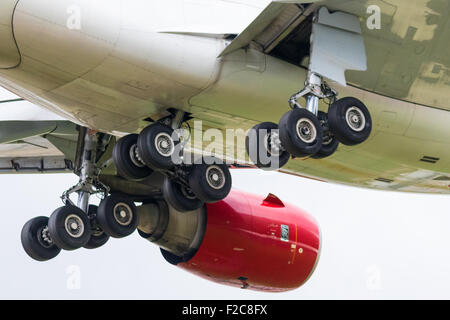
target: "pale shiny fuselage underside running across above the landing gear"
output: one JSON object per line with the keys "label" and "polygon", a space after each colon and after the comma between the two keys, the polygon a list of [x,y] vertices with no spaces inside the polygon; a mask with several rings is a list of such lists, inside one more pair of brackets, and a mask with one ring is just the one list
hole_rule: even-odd
{"label": "pale shiny fuselage underside running across above the landing gear", "polygon": [[[1,10],[10,15],[0,21],[0,83],[118,136],[139,132],[146,119],[167,116],[169,108],[203,120],[205,129],[278,122],[307,70],[251,46],[218,58],[231,41],[226,35],[241,32],[268,1],[200,2],[3,1]],[[286,171],[380,189],[450,191],[450,178],[442,178],[450,173],[446,106],[334,87],[340,97],[368,106],[370,139],[326,160],[291,160]]]}

